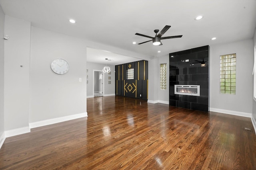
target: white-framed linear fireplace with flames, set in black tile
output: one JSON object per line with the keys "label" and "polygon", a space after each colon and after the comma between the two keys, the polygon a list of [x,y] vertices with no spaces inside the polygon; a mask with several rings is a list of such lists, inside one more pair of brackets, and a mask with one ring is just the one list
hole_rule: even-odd
{"label": "white-framed linear fireplace with flames, set in black tile", "polygon": [[200,96],[200,85],[174,85],[174,94]]}

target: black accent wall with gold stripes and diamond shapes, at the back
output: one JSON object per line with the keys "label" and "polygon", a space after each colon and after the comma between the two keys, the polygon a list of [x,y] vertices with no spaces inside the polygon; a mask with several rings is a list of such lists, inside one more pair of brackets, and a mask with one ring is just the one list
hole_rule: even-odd
{"label": "black accent wall with gold stripes and diamond shapes, at the back", "polygon": [[[127,70],[134,68],[134,78],[127,79]],[[118,96],[148,99],[148,61],[136,61],[115,66],[116,89]]]}

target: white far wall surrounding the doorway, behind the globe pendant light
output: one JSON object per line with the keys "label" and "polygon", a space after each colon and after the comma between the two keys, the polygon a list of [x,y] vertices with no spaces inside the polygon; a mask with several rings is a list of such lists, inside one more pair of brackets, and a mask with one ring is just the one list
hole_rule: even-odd
{"label": "white far wall surrounding the doorway, behind the globe pendant light", "polygon": [[[88,69],[88,84],[87,84],[87,97],[93,96],[93,70],[102,70],[106,66],[106,64],[98,64],[98,63],[89,63],[87,62],[87,69]],[[111,74],[103,73],[104,78],[104,86],[103,86],[103,95],[110,96],[115,95],[115,66],[108,65],[111,70]],[[108,76],[111,76],[111,84],[108,84]]]}

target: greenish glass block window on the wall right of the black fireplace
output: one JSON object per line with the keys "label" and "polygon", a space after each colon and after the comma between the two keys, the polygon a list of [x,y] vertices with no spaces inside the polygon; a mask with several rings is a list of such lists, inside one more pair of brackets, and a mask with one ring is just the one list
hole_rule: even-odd
{"label": "greenish glass block window on the wall right of the black fireplace", "polygon": [[236,54],[220,56],[220,93],[236,94]]}

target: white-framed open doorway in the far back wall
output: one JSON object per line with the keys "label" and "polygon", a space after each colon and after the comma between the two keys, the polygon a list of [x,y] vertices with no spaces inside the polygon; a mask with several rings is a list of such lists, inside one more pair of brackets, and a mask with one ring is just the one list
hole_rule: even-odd
{"label": "white-framed open doorway in the far back wall", "polygon": [[102,70],[93,70],[93,96],[103,96],[104,74]]}

